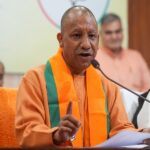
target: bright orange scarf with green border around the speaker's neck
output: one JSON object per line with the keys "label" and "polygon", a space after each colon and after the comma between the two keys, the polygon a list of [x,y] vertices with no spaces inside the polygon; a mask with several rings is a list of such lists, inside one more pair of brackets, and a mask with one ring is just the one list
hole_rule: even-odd
{"label": "bright orange scarf with green border around the speaker's neck", "polygon": [[[75,147],[85,145],[83,143],[86,138],[84,135],[86,133],[84,132],[84,125],[86,124],[89,125],[89,142],[91,146],[104,142],[109,135],[110,120],[103,82],[92,65],[86,69],[83,77],[86,82],[86,97],[84,97],[83,100],[79,100],[76,95],[72,73],[62,57],[62,49],[59,49],[58,53],[51,57],[46,64],[45,80],[50,113],[50,126],[56,127],[59,125],[61,117],[66,115],[70,101],[72,101],[73,107],[72,115],[76,117],[76,119],[81,120],[80,116],[82,110],[86,109],[86,118],[82,119],[81,128],[77,131],[75,140],[70,144],[65,142],[63,145],[69,144]],[[83,102],[83,105],[84,103],[86,104],[86,108],[79,107],[80,101]],[[88,122],[84,124],[86,119],[88,119]],[[93,124],[95,120],[96,124]]]}

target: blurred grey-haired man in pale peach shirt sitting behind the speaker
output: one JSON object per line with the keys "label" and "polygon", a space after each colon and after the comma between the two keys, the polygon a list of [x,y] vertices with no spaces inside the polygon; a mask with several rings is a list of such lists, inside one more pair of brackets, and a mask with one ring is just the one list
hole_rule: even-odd
{"label": "blurred grey-haired man in pale peach shirt sitting behind the speaker", "polygon": [[122,47],[123,29],[119,16],[110,13],[101,20],[102,47],[96,59],[113,80],[139,92],[150,88],[150,72],[138,51]]}

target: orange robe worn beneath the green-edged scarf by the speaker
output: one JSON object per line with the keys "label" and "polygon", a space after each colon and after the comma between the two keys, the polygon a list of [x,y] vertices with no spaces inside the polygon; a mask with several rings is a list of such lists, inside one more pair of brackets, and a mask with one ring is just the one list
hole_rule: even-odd
{"label": "orange robe worn beneath the green-edged scarf by the speaker", "polygon": [[[39,146],[53,144],[52,133],[57,129],[50,127],[48,98],[44,78],[45,65],[29,71],[22,79],[17,96],[16,136],[22,146]],[[128,121],[118,88],[105,79],[104,83],[110,114],[109,136],[120,130],[136,130]],[[91,146],[85,77],[73,76],[75,90],[79,99],[79,110],[82,122],[83,146]],[[96,122],[96,120],[95,120]],[[95,123],[94,122],[94,123]]]}

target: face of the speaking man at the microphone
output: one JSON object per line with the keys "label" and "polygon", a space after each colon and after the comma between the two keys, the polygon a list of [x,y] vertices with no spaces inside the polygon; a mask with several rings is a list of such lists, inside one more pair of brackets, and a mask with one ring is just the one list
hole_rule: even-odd
{"label": "face of the speaking man at the microphone", "polygon": [[99,35],[94,18],[89,14],[71,14],[57,37],[71,71],[83,73],[95,58],[98,49]]}

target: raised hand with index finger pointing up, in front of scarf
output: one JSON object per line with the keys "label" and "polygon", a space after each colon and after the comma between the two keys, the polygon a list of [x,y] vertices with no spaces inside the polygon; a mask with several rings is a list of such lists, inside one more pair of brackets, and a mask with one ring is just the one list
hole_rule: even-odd
{"label": "raised hand with index finger pointing up, in front of scarf", "polygon": [[59,145],[68,141],[76,134],[81,123],[72,115],[72,102],[67,107],[66,115],[60,120],[58,129],[53,133],[54,144]]}

